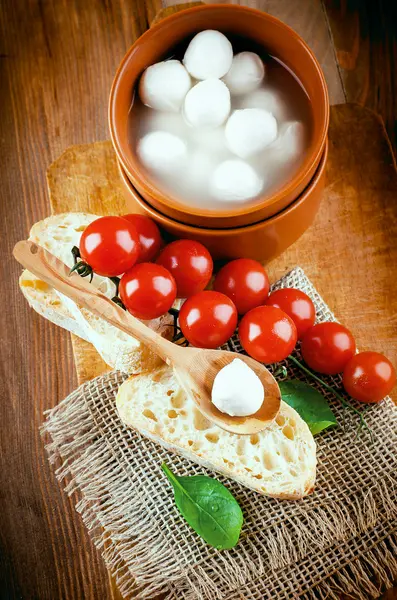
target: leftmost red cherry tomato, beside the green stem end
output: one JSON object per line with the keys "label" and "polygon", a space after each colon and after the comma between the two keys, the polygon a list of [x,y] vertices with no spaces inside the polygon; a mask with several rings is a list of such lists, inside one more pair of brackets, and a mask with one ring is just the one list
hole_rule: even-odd
{"label": "leftmost red cherry tomato, beside the green stem end", "polygon": [[130,269],[139,255],[135,227],[122,217],[101,217],[86,227],[80,238],[80,255],[103,277],[116,277]]}

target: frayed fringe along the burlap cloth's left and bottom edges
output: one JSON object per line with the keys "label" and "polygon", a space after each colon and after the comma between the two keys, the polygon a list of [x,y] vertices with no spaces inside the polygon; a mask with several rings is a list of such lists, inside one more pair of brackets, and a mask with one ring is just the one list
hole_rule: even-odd
{"label": "frayed fringe along the burlap cloth's left and bottom edges", "polygon": [[[247,580],[264,576],[269,566],[272,570],[285,568],[299,561],[309,548],[310,552],[316,548],[324,550],[338,540],[345,542],[367,531],[379,520],[396,518],[396,482],[387,477],[377,481],[372,489],[363,490],[361,497],[355,497],[350,506],[341,507],[332,500],[327,510],[319,506],[315,513],[311,513],[310,528],[303,520],[290,521],[299,530],[299,547],[293,545],[285,522],[279,522],[266,536],[265,551],[262,547],[259,553],[255,540],[245,536],[239,552],[244,551],[246,560],[237,560],[231,553],[225,554],[221,572],[220,553],[216,553],[216,561],[215,558],[210,559],[213,564],[206,559],[205,563],[187,567],[183,572],[174,569],[174,565],[169,564],[167,547],[157,541],[156,524],[149,518],[143,496],[139,493],[131,496],[136,485],[114,454],[106,436],[102,435],[84,401],[87,386],[97,385],[100,388],[105,385],[116,390],[123,379],[122,374],[113,372],[73,392],[49,411],[43,434],[51,436],[52,441],[46,448],[50,462],[59,465],[56,470],[58,480],[66,483],[65,491],[69,495],[77,493],[76,510],[125,597],[133,595],[140,600],[162,593],[166,594],[167,600],[181,597],[186,600],[223,598],[223,585],[236,589],[244,587]],[[125,513],[127,500],[130,507],[128,514]],[[394,579],[397,572],[395,557],[390,551],[383,550],[382,545],[373,548],[359,561],[353,561],[332,576],[318,581],[314,590],[304,593],[305,600],[337,598],[341,591],[347,594],[354,592],[353,597],[360,600],[376,597],[368,568],[372,567],[384,585]],[[213,569],[217,572],[216,582],[211,577]],[[386,576],[387,570],[393,573],[393,577]]]}

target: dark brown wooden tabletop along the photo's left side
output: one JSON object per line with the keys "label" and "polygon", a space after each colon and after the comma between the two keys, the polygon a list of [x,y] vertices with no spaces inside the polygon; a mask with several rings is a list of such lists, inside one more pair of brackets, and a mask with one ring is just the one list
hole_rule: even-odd
{"label": "dark brown wooden tabletop along the photo's left side", "polygon": [[[77,384],[70,336],[29,310],[14,243],[47,216],[47,166],[72,143],[108,137],[116,67],[146,29],[142,2],[0,5],[0,596],[112,597],[103,560],[55,480],[39,426]],[[7,291],[5,291],[7,290]]]}

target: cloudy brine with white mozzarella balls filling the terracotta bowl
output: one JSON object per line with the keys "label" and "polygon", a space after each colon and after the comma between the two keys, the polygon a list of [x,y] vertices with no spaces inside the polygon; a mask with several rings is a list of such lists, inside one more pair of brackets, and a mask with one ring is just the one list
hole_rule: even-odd
{"label": "cloudy brine with white mozzarella balls filling the terracotta bowl", "polygon": [[[130,111],[130,143],[147,179],[179,203],[213,211],[255,206],[304,161],[312,135],[310,100],[286,65],[245,38],[227,36],[232,57],[222,34],[200,35],[202,52],[196,36],[194,52],[190,40],[180,44],[141,78]],[[224,55],[206,70],[211,44],[212,55]],[[213,76],[225,70],[223,77]],[[161,90],[164,97],[157,99]]]}

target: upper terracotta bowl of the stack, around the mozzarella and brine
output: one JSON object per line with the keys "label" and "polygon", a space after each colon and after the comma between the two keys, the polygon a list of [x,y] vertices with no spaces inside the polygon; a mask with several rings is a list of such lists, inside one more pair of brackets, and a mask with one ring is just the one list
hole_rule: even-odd
{"label": "upper terracotta bowl of the stack, around the mozzarella and brine", "polygon": [[[189,41],[198,31],[218,29],[245,36],[264,51],[279,58],[297,75],[312,107],[312,136],[298,172],[272,196],[264,196],[254,206],[235,211],[213,211],[187,207],[177,198],[159,190],[140,164],[129,142],[129,111],[134,90],[142,72],[163,60],[176,44]],[[131,118],[133,118],[131,116]],[[306,43],[290,27],[264,12],[236,5],[204,5],[165,18],[146,31],[129,49],[116,73],[109,103],[113,146],[132,185],[147,203],[164,215],[195,226],[228,228],[256,223],[275,215],[291,204],[306,188],[316,172],[327,138],[329,101],[321,68]]]}

